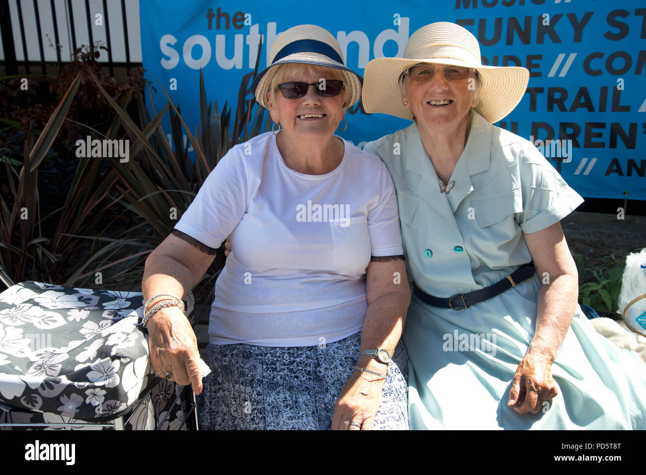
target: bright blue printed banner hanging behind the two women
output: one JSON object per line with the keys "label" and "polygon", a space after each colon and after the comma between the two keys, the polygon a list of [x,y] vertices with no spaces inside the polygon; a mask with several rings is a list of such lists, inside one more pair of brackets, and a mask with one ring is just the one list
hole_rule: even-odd
{"label": "bright blue printed banner hanging behind the two women", "polygon": [[[523,100],[497,125],[533,140],[580,195],[646,200],[643,0],[140,0],[140,21],[146,78],[159,79],[191,127],[200,68],[209,101],[235,105],[261,34],[259,70],[280,32],[312,23],[337,37],[348,67],[363,75],[370,59],[402,56],[417,28],[458,23],[477,37],[483,64],[530,70]],[[158,88],[156,110],[165,103]],[[339,135],[356,145],[410,124],[366,114],[360,103],[346,120]]]}

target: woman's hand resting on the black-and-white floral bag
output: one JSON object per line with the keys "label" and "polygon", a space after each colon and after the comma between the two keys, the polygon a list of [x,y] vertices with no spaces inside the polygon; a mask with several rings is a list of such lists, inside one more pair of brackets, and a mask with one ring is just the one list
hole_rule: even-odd
{"label": "woman's hand resting on the black-and-white floral bag", "polygon": [[[191,324],[178,307],[162,308],[148,322],[148,348],[155,371],[172,373],[178,385],[202,392],[200,352]],[[164,377],[164,374],[159,375]]]}

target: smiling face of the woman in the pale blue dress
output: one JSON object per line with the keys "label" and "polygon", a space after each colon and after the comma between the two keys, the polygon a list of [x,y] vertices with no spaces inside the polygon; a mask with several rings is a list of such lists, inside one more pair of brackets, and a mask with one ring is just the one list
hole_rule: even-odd
{"label": "smiling face of the woman in the pale blue dress", "polygon": [[[446,65],[424,64],[421,74],[428,74],[428,70],[423,70],[428,67],[441,69]],[[430,80],[412,80],[413,74],[416,74],[419,69],[419,67],[409,69],[411,77],[406,76],[402,85],[402,102],[408,103],[406,107],[413,112],[417,124],[446,131],[466,125],[470,109],[477,105],[477,88],[469,89],[469,85],[475,82],[469,81],[469,78],[449,80],[440,70],[435,71]],[[473,73],[470,73],[469,77],[473,78]]]}

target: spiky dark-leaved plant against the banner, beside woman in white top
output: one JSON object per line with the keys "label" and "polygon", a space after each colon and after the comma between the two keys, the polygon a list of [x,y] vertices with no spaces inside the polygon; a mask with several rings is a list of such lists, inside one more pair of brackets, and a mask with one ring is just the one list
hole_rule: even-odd
{"label": "spiky dark-leaved plant against the banner, beside woman in white top", "polygon": [[[257,58],[260,58],[261,47],[262,45],[258,46]],[[129,114],[112,100],[96,81],[99,91],[116,111],[121,125],[127,130],[132,142],[130,160],[127,164],[120,164],[114,158],[108,159],[120,179],[117,184],[121,194],[118,202],[141,216],[154,230],[152,235],[138,233],[136,238],[129,241],[128,245],[131,248],[139,248],[138,253],[133,254],[132,257],[149,253],[169,235],[208,174],[231,147],[269,130],[271,124],[269,114],[266,114],[262,107],[256,107],[255,99],[248,101],[245,99],[250,92],[249,84],[255,78],[257,69],[256,59],[254,71],[245,74],[242,79],[233,116],[233,129],[229,128],[232,111],[227,109],[227,103],[222,112],[219,112],[217,101],[213,107],[207,101],[203,74],[200,70],[200,129],[198,130],[196,125],[194,134],[183,120],[180,108],[174,105],[161,84],[160,88],[168,104],[160,112],[155,111],[152,105],[152,94],[150,89],[148,90],[154,118],[151,119],[143,105],[143,97],[138,96],[140,123],[145,124],[145,127],[140,129]],[[165,114],[169,114],[174,151],[161,127],[161,120]],[[185,146],[183,146],[183,133],[188,139]],[[188,153],[189,143],[194,151],[193,160]],[[129,235],[133,234],[129,233]],[[110,246],[118,246],[118,243],[111,243]],[[224,253],[218,253],[203,277],[203,288],[209,293],[213,288],[213,280],[224,266],[224,260]],[[90,262],[92,260],[89,260],[88,264]],[[139,271],[143,275],[143,267],[140,267]]]}

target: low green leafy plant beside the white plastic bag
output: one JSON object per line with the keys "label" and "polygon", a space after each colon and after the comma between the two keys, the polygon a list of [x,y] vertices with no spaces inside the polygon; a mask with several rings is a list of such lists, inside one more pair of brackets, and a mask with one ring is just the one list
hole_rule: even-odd
{"label": "low green leafy plant beside the white plastic bag", "polygon": [[579,272],[579,302],[594,308],[599,315],[616,319],[625,262],[610,255],[604,258],[609,266],[587,268],[582,254],[577,254],[574,260]]}

